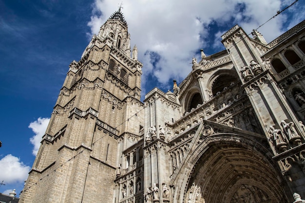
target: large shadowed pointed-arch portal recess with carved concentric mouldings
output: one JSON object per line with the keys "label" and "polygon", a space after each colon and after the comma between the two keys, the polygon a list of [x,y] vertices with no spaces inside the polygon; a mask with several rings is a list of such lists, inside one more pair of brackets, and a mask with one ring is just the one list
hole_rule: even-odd
{"label": "large shadowed pointed-arch portal recess with carved concentric mouldings", "polygon": [[[269,153],[245,136],[211,135],[179,167],[172,182],[179,188],[174,199],[177,203],[287,202],[281,173]],[[200,191],[197,202],[192,200],[194,188]]]}

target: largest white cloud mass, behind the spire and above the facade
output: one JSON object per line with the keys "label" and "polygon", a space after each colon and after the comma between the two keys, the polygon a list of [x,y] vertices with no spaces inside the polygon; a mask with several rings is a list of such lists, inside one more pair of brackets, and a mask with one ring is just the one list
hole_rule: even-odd
{"label": "largest white cloud mass, behind the spire and above the facade", "polygon": [[[122,12],[129,26],[131,46],[137,45],[138,59],[144,64],[143,83],[149,82],[147,76],[153,74],[158,82],[166,85],[171,78],[179,81],[189,74],[191,58],[193,55],[200,57],[200,48],[205,47],[208,52],[209,48],[219,49],[220,38],[211,40],[208,45],[205,38],[199,37],[209,35],[211,22],[219,25],[233,22],[250,33],[290,3],[291,0],[126,0]],[[117,10],[113,0],[95,0],[93,7],[88,23],[91,36],[97,34],[100,26]],[[281,28],[285,21],[283,13],[259,32],[267,42],[271,41],[283,33]],[[154,67],[150,55],[145,55],[147,51],[161,56]]]}

